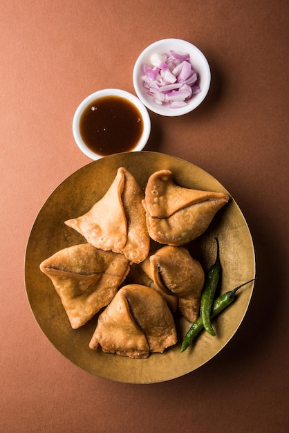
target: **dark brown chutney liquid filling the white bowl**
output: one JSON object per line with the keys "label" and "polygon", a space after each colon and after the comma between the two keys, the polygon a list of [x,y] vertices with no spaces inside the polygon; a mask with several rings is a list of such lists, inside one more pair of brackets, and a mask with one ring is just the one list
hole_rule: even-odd
{"label": "dark brown chutney liquid filling the white bowl", "polygon": [[106,156],[131,151],[144,129],[140,111],[121,96],[103,96],[91,102],[80,117],[80,135],[86,146]]}

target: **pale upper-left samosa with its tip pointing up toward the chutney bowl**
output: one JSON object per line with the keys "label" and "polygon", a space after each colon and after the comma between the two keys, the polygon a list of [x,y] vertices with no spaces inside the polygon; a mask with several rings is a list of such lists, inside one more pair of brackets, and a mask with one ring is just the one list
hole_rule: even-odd
{"label": "pale upper-left samosa with its tip pointing up toward the chutney bowl", "polygon": [[65,221],[88,243],[120,252],[133,263],[149,253],[149,234],[142,207],[144,194],[136,179],[120,167],[106,194],[86,214]]}

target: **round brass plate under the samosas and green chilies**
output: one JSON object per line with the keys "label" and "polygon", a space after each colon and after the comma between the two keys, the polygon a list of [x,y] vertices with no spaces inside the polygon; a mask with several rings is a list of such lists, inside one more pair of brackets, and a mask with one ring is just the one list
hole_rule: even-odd
{"label": "round brass plate under the samosas and green chilies", "polygon": [[[75,365],[95,376],[122,383],[158,383],[197,369],[221,351],[241,324],[254,285],[242,288],[234,303],[214,320],[216,337],[202,332],[183,353],[180,353],[180,342],[189,325],[185,320],[177,324],[178,344],[164,353],[153,353],[145,360],[89,349],[97,317],[82,328],[73,330],[50,279],[41,273],[39,264],[62,248],[85,242],[75,230],[66,227],[64,221],[90,209],[105,194],[118,167],[126,167],[142,187],[153,172],[170,169],[178,185],[228,194],[214,177],[196,165],[165,154],[140,151],[96,160],[66,178],[48,197],[37,215],[26,249],[26,293],[41,330],[56,349]],[[254,248],[250,231],[232,198],[216,214],[205,234],[189,245],[193,257],[201,261],[205,270],[216,255],[214,237],[218,237],[221,248],[221,292],[254,278]]]}

